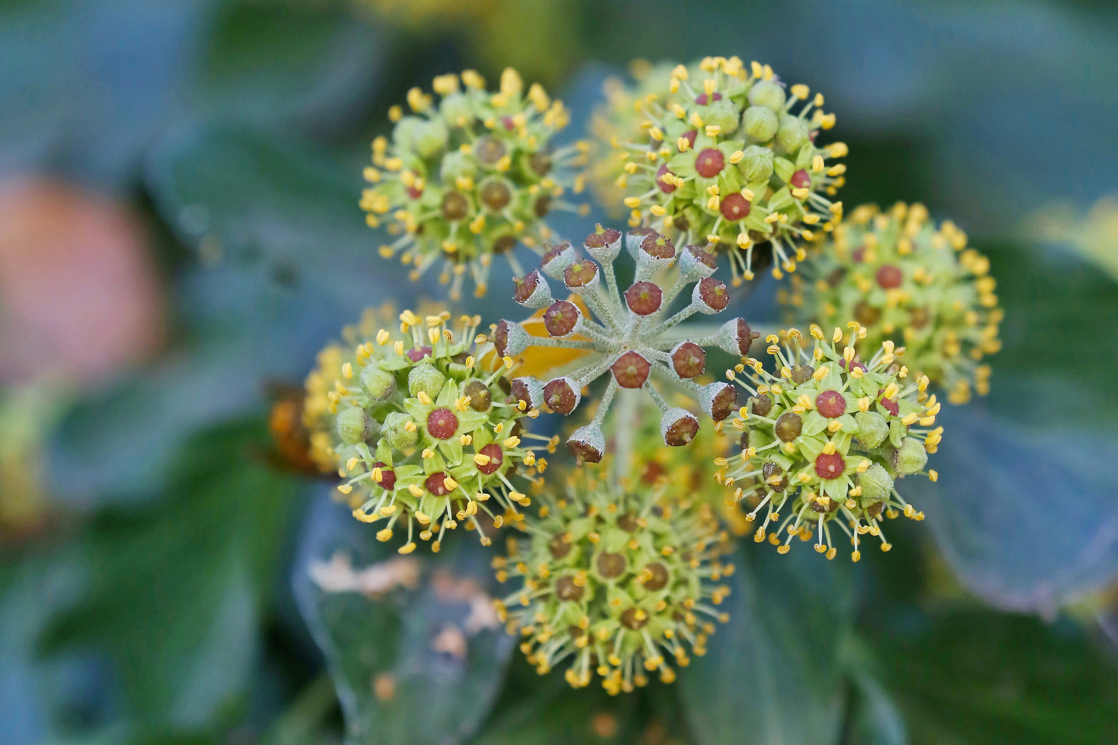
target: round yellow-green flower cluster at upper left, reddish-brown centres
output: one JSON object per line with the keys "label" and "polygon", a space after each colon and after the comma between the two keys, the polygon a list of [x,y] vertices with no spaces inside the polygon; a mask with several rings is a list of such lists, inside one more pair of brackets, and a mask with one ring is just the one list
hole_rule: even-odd
{"label": "round yellow-green flower cluster at upper left, reddish-brown centres", "polygon": [[380,247],[385,258],[399,254],[418,279],[442,262],[443,281],[457,298],[468,269],[476,294],[484,295],[494,254],[512,255],[518,242],[536,250],[552,236],[544,217],[552,210],[584,211],[565,201],[582,191],[575,169],[585,143],[553,150],[551,137],[567,125],[562,103],[539,84],[523,90],[520,75],[506,68],[498,93],[473,70],[435,78],[436,104],[419,88],[408,92],[410,114],[389,112],[396,125],[391,142],[377,137],[370,187],[361,208],[370,227],[387,223],[397,238]]}

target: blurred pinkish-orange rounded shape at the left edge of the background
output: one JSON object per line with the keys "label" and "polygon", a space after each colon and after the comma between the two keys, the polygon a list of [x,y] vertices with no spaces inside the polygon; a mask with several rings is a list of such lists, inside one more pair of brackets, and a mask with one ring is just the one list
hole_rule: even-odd
{"label": "blurred pinkish-orange rounded shape at the left edge of the background", "polygon": [[161,296],[123,204],[44,178],[0,183],[0,381],[107,378],[159,345]]}

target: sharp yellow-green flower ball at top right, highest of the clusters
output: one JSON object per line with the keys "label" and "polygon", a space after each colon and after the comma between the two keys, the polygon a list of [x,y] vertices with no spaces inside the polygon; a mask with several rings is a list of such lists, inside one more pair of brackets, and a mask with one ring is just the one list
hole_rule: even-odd
{"label": "sharp yellow-green flower ball at top right, highest of the clusters", "polygon": [[624,172],[613,185],[625,194],[629,225],[714,245],[729,254],[735,285],[754,278],[758,247],[767,247],[780,277],[804,260],[804,243],[842,219],[842,202],[831,197],[845,166],[827,160],[845,155],[846,145],[816,145],[835,117],[807,86],[786,90],[768,66],[707,57],[676,66],[664,89],[634,92],[633,99],[613,127],[595,127],[618,133],[612,144]]}

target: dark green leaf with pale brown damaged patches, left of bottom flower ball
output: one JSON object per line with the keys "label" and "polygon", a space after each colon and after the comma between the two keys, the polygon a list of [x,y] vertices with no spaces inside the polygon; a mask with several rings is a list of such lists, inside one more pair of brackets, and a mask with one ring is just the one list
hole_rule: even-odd
{"label": "dark green leaf with pale brown damaged patches, left of bottom flower ball", "polygon": [[492,551],[465,533],[447,536],[442,553],[421,544],[400,556],[375,533],[322,493],[294,569],[347,734],[378,745],[464,742],[496,699],[515,643],[492,610]]}

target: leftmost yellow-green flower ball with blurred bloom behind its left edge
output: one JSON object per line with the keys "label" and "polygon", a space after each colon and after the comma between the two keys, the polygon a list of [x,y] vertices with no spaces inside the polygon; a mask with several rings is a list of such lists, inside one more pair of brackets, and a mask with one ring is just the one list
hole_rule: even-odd
{"label": "leftmost yellow-green flower ball with blurred bloom behind its left edge", "polygon": [[558,439],[522,431],[522,418],[539,412],[509,395],[508,369],[475,337],[481,318],[464,316],[455,333],[446,312],[399,317],[399,334],[381,328],[320,354],[306,384],[313,457],[344,479],[338,490],[354,517],[386,520],[378,539],[407,524],[400,553],[415,550],[416,525],[434,551],[459,522],[487,545],[479,510],[494,527],[520,519],[517,506],[530,500],[511,479],[542,471],[536,453]]}

